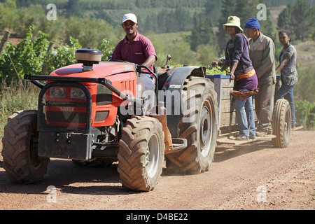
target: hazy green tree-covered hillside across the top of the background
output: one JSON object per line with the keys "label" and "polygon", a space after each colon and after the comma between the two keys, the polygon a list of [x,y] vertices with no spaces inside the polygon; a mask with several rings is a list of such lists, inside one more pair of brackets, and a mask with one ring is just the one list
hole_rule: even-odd
{"label": "hazy green tree-covered hillside across the top of the background", "polygon": [[[308,3],[309,1],[309,3]],[[18,36],[25,36],[26,30],[35,25],[37,30],[48,34],[50,40],[69,40],[69,36],[78,38],[83,45],[94,46],[102,40],[101,35],[111,42],[117,42],[123,35],[120,21],[125,13],[138,15],[141,33],[166,34],[174,32],[192,32],[188,41],[191,49],[204,44],[210,36],[211,45],[217,45],[222,51],[228,38],[222,24],[229,15],[237,15],[244,26],[249,18],[259,12],[258,4],[267,6],[267,19],[260,20],[262,31],[276,39],[277,27],[291,30],[296,38],[304,41],[313,38],[315,29],[314,6],[312,0],[55,0],[57,20],[48,21],[45,17],[48,0],[1,0],[0,30],[12,29]],[[297,2],[295,4],[295,2]],[[287,7],[279,15],[276,25],[269,8],[281,5]],[[310,7],[311,6],[311,7]],[[301,22],[303,21],[303,22]],[[60,29],[62,27],[62,29]],[[84,32],[84,34],[83,34]],[[87,41],[87,39],[89,41]],[[197,41],[191,41],[191,39]],[[92,42],[91,42],[92,41]],[[193,43],[192,43],[193,42]]]}

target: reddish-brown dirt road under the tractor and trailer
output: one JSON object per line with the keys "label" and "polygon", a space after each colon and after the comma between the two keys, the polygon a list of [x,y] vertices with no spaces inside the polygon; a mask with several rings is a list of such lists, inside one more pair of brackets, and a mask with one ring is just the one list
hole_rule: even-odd
{"label": "reddish-brown dirt road under the tractor and trailer", "polygon": [[[77,167],[54,160],[37,185],[8,181],[1,167],[0,209],[315,209],[315,132],[295,131],[288,148],[271,141],[218,145],[209,172],[168,176],[149,193],[124,190],[117,165]],[[47,190],[48,186],[55,186]]]}

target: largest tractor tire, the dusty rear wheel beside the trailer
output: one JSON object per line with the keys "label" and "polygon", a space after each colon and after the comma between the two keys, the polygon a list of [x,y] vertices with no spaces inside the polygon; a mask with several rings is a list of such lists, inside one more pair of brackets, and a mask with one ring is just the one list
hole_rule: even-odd
{"label": "largest tractor tire, the dusty rear wheel beside the trailer", "polygon": [[181,108],[186,111],[179,122],[179,138],[187,139],[188,146],[165,155],[167,172],[200,174],[209,169],[216,149],[218,102],[214,83],[208,78],[187,78],[181,96]]}

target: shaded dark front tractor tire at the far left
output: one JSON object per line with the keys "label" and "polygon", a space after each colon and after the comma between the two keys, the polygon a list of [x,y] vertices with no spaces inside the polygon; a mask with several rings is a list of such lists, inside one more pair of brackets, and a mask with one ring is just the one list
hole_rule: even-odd
{"label": "shaded dark front tractor tire at the far left", "polygon": [[2,139],[3,168],[14,183],[38,183],[49,158],[38,157],[37,111],[16,111],[8,118]]}

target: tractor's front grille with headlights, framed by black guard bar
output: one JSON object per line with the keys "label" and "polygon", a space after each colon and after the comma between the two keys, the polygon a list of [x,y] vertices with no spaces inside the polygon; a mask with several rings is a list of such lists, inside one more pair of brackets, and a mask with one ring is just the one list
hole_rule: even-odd
{"label": "tractor's front grille with headlights, framed by black guard bar", "polygon": [[50,83],[41,90],[39,97],[38,125],[41,131],[90,132],[92,101],[84,85]]}

